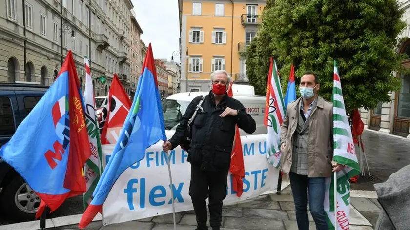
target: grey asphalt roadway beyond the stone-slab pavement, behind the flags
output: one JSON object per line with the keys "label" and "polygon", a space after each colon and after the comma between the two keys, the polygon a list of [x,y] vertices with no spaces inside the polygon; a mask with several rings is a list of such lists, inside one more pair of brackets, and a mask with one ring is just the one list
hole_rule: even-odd
{"label": "grey asphalt roadway beyond the stone-slab pavement, behind the flags", "polygon": [[[354,190],[374,190],[373,184],[385,181],[391,173],[410,164],[410,140],[400,137],[365,131],[363,136],[368,157],[371,178],[359,177],[359,183],[352,184]],[[82,196],[68,199],[50,218],[83,213]],[[366,216],[366,215],[365,215]],[[13,222],[0,215],[0,225]]]}

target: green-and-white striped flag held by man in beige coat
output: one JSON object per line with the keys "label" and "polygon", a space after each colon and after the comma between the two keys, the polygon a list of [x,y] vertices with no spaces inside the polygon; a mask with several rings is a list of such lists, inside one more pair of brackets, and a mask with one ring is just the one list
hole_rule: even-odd
{"label": "green-and-white striped flag held by man in beige coat", "polygon": [[[346,115],[343,100],[342,85],[340,84],[337,63],[334,61],[333,75],[333,161],[346,167],[337,172],[336,191],[334,191],[334,176],[326,178],[325,211],[328,217],[329,230],[349,230],[350,212],[350,182],[349,179],[360,173],[353,137]],[[336,221],[334,216],[334,199],[336,204]],[[336,228],[335,228],[336,226]]]}

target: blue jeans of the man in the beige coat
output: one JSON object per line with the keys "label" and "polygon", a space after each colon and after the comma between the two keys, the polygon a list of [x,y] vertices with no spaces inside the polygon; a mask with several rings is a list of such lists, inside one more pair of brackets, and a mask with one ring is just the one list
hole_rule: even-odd
{"label": "blue jeans of the man in the beige coat", "polygon": [[326,213],[323,207],[323,201],[325,200],[325,178],[308,178],[308,176],[292,172],[289,173],[289,177],[293,200],[295,201],[298,229],[309,230],[309,201],[310,213],[315,221],[316,230],[328,230],[328,222],[326,221]]}

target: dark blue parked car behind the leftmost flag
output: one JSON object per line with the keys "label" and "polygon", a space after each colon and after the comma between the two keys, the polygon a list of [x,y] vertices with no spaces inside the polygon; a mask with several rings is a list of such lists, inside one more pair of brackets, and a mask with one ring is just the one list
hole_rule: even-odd
{"label": "dark blue parked car behind the leftmost flag", "polygon": [[[10,140],[47,89],[27,83],[0,83],[0,147]],[[35,219],[39,205],[40,197],[0,158],[0,210],[15,221],[30,221]]]}

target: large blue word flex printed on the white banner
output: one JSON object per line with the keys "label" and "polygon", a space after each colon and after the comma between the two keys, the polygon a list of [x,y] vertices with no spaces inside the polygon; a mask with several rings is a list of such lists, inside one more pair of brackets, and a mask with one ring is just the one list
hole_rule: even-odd
{"label": "large blue word flex printed on the white banner", "polygon": [[[153,153],[153,152],[152,152]],[[140,183],[139,183],[140,182]],[[134,184],[139,184],[140,188],[134,188]],[[184,202],[184,198],[182,197],[182,189],[184,188],[184,183],[179,183],[178,187],[175,187],[175,185],[172,186],[168,185],[169,187],[169,192],[171,193],[171,189],[174,192],[174,201],[178,201],[179,203]],[[157,185],[154,186],[152,189],[149,191],[146,190],[146,185],[145,185],[145,178],[141,178],[140,180],[138,179],[130,179],[127,183],[127,188],[124,189],[124,193],[127,194],[127,203],[129,210],[134,210],[134,201],[133,201],[133,194],[139,192],[139,197],[140,197],[140,208],[143,209],[145,208],[145,196],[148,194],[148,202],[151,206],[161,206],[165,204],[164,198],[167,196],[167,190],[165,189],[164,186],[162,185]],[[169,200],[168,204],[172,204],[172,199]]]}

